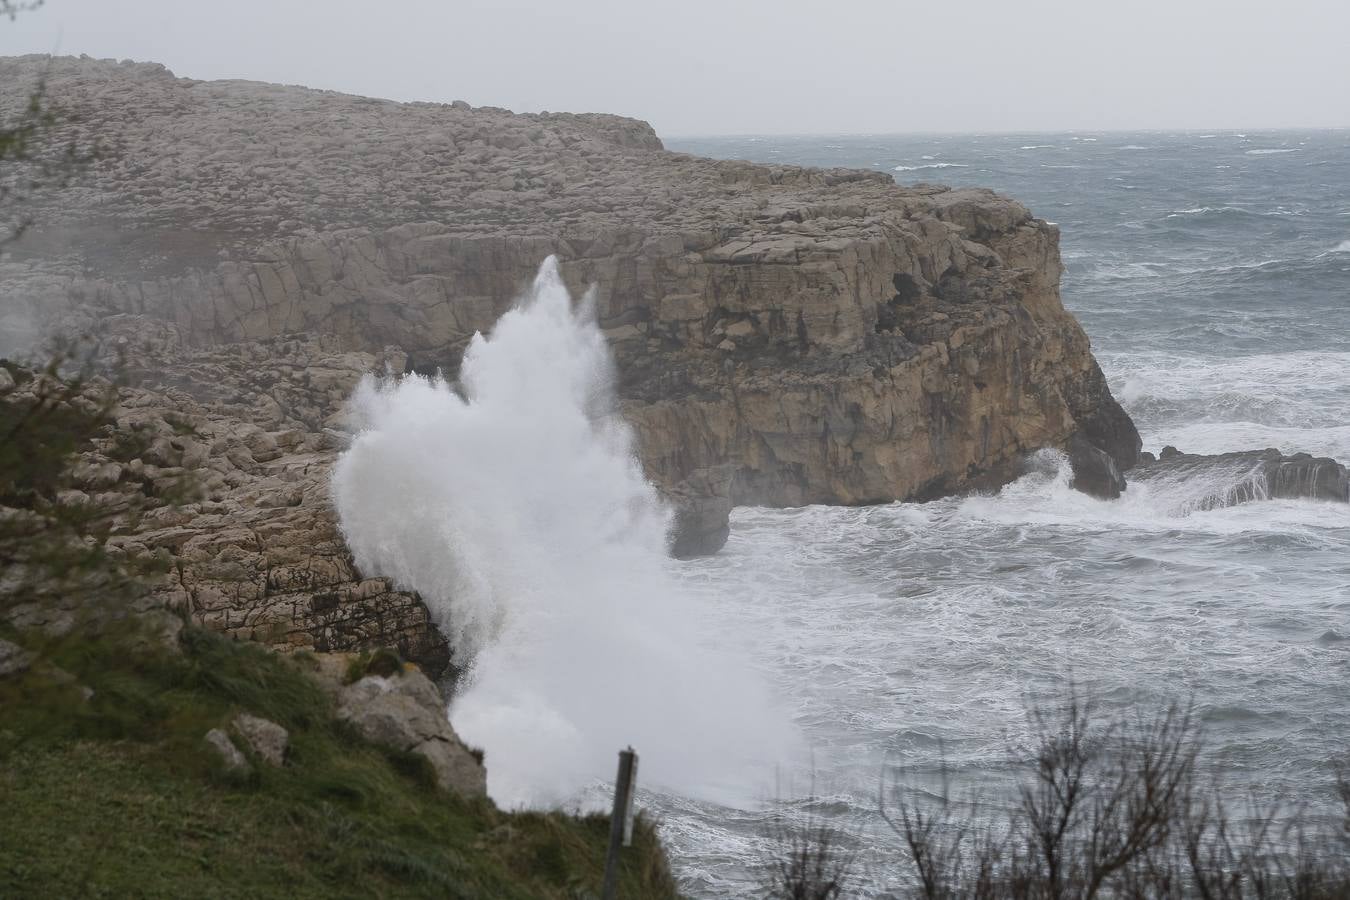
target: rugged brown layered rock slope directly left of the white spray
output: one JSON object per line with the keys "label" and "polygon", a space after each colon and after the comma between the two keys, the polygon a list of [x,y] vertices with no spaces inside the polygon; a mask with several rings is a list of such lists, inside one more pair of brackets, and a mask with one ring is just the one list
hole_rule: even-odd
{"label": "rugged brown layered rock slope directly left of the white spray", "polygon": [[[347,352],[336,337],[185,349],[162,321],[104,325],[111,348],[134,351],[136,386],[77,457],[63,499],[124,510],[109,551],[165,564],[142,606],[282,649],[392,646],[444,671],[448,645],[427,607],[356,569],[329,494],[347,398],[367,372],[402,371],[404,356]],[[14,623],[53,630],[80,614],[32,606],[11,610]]]}

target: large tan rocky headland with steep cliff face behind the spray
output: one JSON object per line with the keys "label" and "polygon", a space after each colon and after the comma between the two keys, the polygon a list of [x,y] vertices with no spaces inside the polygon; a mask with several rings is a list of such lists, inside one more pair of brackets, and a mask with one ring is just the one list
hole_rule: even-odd
{"label": "large tan rocky headland with steep cliff face behind the spray", "polygon": [[[647,471],[686,510],[678,551],[716,549],[730,503],[996,486],[1027,451],[1075,434],[1122,470],[1137,461],[1134,426],[1060,302],[1058,231],[991,192],[672,154],[613,116],[200,82],[153,65],[0,61],[0,104],[39,73],[73,116],[63,128],[104,135],[111,152],[32,201],[39,225],[0,264],[5,321],[163,322],[174,359],[146,382],[162,397],[192,360],[279,354],[293,335],[370,366],[382,354],[454,372],[556,254],[574,290],[593,287]],[[192,515],[225,515],[221,529],[251,529],[262,551],[288,515],[336,540],[319,436],[346,382],[308,417],[290,394],[316,366],[258,358],[197,379],[256,426],[246,445],[279,453],[251,451],[248,478],[302,487],[278,506],[240,499],[247,525],[223,509]],[[230,459],[227,444],[207,449]],[[215,578],[205,557],[180,557],[185,582]],[[343,565],[329,582],[366,584]],[[297,598],[333,594],[310,582]],[[336,609],[386,596],[344,590]],[[251,594],[208,596],[255,615]],[[190,602],[209,604],[202,588]],[[288,603],[277,621],[305,627],[323,606]]]}

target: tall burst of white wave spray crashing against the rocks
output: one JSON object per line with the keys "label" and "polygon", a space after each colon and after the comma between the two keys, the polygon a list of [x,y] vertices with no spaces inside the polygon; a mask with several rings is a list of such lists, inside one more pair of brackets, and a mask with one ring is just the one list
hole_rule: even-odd
{"label": "tall burst of white wave spray crashing against the rocks", "polygon": [[792,753],[744,648],[672,576],[668,511],[614,412],[590,304],[549,258],[460,383],[364,381],[333,472],[367,573],[418,591],[468,671],[450,715],[504,806],[576,800],[632,743],[641,777],[763,796]]}

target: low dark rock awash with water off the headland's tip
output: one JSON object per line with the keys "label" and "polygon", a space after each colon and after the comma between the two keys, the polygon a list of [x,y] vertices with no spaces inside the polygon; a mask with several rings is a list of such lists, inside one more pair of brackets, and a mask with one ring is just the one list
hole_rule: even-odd
{"label": "low dark rock awash with water off the headland's tip", "polygon": [[[1169,452],[1170,451],[1170,452]],[[1181,453],[1166,448],[1141,463],[1131,479],[1164,487],[1185,510],[1206,510],[1264,499],[1350,502],[1350,476],[1334,459],[1278,449]]]}

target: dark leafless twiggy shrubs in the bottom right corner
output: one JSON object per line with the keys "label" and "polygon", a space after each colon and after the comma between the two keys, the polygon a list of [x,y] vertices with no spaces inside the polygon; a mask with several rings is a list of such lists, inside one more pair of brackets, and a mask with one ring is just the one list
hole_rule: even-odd
{"label": "dark leafless twiggy shrubs in the bottom right corner", "polygon": [[[1191,711],[1103,721],[1072,695],[1031,712],[1037,748],[1017,800],[990,823],[896,784],[882,814],[925,900],[1332,900],[1350,897],[1345,826],[1318,833],[1280,807],[1234,816],[1218,783],[1196,776]],[[883,791],[883,800],[886,799]],[[911,799],[915,797],[915,799]]]}

